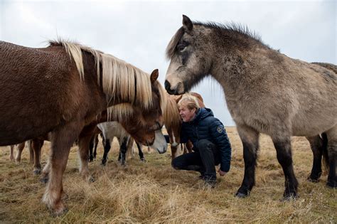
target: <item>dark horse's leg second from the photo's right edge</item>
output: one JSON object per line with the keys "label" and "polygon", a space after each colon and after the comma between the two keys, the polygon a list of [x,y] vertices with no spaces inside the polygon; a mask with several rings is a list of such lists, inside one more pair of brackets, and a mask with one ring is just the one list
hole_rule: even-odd
{"label": "dark horse's leg second from the photo's right edge", "polygon": [[308,139],[312,154],[314,156],[311,174],[308,177],[309,181],[317,182],[319,181],[319,177],[322,174],[322,156],[323,156],[323,139],[319,137],[319,135],[316,135],[314,137],[306,137]]}

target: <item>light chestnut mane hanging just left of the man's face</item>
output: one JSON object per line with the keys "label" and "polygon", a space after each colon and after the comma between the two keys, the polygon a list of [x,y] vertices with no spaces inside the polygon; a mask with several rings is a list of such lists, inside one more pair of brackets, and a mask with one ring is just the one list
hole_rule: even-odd
{"label": "light chestnut mane hanging just left of the man's face", "polygon": [[176,103],[176,96],[166,93],[166,110],[163,111],[166,129],[178,127],[181,124],[181,117]]}

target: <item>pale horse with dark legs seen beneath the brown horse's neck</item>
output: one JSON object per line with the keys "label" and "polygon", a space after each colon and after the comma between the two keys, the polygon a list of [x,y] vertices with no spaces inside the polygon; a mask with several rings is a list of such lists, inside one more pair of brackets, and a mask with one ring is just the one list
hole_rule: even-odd
{"label": "pale horse with dark legs seen beneath the brown horse's neck", "polygon": [[[126,153],[131,151],[134,145],[134,139],[130,137],[127,131],[119,122],[104,122],[97,124],[98,129],[101,130],[103,136],[104,154],[102,158],[102,165],[107,163],[107,154],[111,149],[111,143],[114,137],[119,141],[119,158],[122,165],[125,165]],[[141,161],[145,161],[143,151],[141,151],[141,144],[137,143],[139,157]]]}

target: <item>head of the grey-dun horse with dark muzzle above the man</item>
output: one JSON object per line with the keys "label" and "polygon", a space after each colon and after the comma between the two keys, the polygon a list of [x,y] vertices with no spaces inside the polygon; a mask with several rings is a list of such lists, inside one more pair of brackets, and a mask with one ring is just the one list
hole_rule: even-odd
{"label": "head of the grey-dun horse with dark muzzle above the man", "polygon": [[183,15],[183,26],[166,48],[166,56],[171,60],[165,80],[169,94],[181,95],[208,75],[211,63],[207,33],[205,27],[193,24]]}

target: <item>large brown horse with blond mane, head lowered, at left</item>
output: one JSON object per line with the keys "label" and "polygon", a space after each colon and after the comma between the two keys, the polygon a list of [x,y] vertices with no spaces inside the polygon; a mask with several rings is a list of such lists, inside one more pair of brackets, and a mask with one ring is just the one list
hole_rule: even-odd
{"label": "large brown horse with blond mane, head lowered, at left", "polygon": [[[107,107],[131,104],[138,115],[124,122],[137,120],[138,124],[128,126],[129,134],[142,144],[157,144],[161,152],[166,151],[160,131],[164,97],[158,70],[149,75],[112,55],[60,40],[50,41],[46,48],[1,41],[0,53],[0,145],[51,132],[50,178],[43,202],[53,215],[66,210],[61,200],[62,177],[70,146],[77,137],[86,139],[90,123]],[[141,133],[137,133],[139,128]],[[89,142],[79,144],[88,147]]]}

